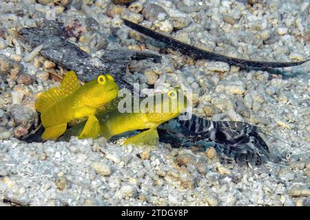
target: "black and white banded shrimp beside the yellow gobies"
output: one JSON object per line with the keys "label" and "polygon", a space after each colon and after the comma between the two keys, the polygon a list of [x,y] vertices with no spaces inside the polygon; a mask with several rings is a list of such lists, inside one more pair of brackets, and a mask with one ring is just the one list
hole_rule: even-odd
{"label": "black and white banded shrimp beside the yellow gobies", "polygon": [[245,122],[209,121],[192,115],[190,120],[179,120],[184,129],[198,135],[199,139],[213,142],[216,151],[233,158],[240,164],[265,164],[279,162],[280,157],[271,155],[258,126]]}

